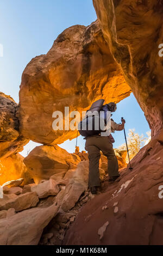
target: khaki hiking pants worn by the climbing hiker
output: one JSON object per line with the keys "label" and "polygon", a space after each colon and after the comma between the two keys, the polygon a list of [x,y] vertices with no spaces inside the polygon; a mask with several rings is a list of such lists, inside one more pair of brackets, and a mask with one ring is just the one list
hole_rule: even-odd
{"label": "khaki hiking pants worn by the climbing hiker", "polygon": [[108,137],[90,136],[86,138],[85,149],[89,154],[89,187],[100,186],[99,159],[100,150],[108,159],[108,173],[110,178],[120,176],[118,173],[118,161],[115,156],[112,143]]}

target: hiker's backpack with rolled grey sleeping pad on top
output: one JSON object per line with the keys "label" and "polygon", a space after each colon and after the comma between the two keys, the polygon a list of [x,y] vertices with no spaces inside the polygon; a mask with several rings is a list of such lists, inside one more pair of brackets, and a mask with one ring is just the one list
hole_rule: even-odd
{"label": "hiker's backpack with rolled grey sleeping pad on top", "polygon": [[[89,111],[86,112],[85,118],[82,121],[80,121],[80,123],[78,124],[78,130],[80,135],[87,137],[87,136],[98,135],[100,132],[103,132],[100,129],[96,130],[96,127],[95,127],[95,123],[96,124],[98,123],[98,127],[100,127],[99,112],[101,111],[103,103],[104,103],[103,99],[93,102]],[[90,128],[89,124],[92,125],[91,130],[89,129]]]}

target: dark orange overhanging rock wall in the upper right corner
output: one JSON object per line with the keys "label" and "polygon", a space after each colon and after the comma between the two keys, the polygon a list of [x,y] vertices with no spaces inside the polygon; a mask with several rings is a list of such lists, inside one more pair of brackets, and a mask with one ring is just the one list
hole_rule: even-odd
{"label": "dark orange overhanging rock wall in the upper right corner", "polygon": [[93,0],[110,51],[152,129],[162,127],[163,4],[160,0]]}

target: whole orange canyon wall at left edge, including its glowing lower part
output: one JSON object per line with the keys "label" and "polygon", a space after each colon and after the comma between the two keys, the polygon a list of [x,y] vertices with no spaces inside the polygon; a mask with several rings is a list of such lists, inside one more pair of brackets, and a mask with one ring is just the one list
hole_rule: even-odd
{"label": "whole orange canyon wall at left edge, including its glowing lower part", "polygon": [[17,113],[17,103],[0,92],[0,185],[13,179],[30,180],[23,157],[18,154],[28,139],[20,133]]}

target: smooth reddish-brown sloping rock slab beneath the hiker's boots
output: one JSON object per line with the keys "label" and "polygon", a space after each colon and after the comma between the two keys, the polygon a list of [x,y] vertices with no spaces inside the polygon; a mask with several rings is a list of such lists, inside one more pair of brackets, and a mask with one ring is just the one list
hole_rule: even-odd
{"label": "smooth reddish-brown sloping rock slab beneath the hiker's boots", "polygon": [[102,193],[87,202],[67,231],[65,245],[162,245],[162,135],[161,130],[134,157],[132,171],[123,169],[113,184],[105,180]]}

